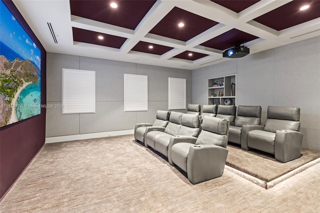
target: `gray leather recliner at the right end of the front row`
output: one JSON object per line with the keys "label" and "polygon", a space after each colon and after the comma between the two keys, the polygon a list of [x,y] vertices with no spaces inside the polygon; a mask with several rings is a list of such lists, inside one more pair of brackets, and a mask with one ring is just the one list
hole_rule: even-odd
{"label": "gray leather recliner at the right end of the front row", "polygon": [[222,176],[228,150],[226,149],[229,120],[204,116],[195,144],[192,141],[175,143],[169,163],[187,172],[193,184]]}

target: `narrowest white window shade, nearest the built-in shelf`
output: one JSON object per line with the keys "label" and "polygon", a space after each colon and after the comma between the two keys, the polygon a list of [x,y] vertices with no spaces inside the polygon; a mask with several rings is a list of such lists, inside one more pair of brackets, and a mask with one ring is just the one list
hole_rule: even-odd
{"label": "narrowest white window shade, nearest the built-in shelf", "polygon": [[186,108],[186,79],[169,77],[168,109]]}

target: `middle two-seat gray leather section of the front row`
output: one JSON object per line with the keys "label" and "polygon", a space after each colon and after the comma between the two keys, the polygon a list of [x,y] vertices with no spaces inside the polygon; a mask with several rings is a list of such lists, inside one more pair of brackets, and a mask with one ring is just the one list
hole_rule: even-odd
{"label": "middle two-seat gray leather section of the front row", "polygon": [[171,111],[166,127],[148,129],[144,144],[168,157],[171,146],[184,141],[196,141],[199,134],[199,115]]}

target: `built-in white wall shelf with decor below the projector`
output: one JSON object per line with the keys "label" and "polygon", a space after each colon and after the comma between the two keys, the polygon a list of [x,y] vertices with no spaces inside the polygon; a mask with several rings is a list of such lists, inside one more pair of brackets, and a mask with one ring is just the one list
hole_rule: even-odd
{"label": "built-in white wall shelf with decor below the projector", "polygon": [[208,78],[208,104],[235,105],[236,74]]}

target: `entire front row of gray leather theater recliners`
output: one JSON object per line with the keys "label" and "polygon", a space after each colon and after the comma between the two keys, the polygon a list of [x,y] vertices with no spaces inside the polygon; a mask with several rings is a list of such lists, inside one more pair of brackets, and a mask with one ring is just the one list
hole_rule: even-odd
{"label": "entire front row of gray leather theater recliners", "polygon": [[[160,123],[162,126],[153,126]],[[157,110],[153,124],[137,123],[134,138],[168,158],[187,172],[191,183],[223,174],[229,121],[212,116],[201,123],[198,114]]]}

